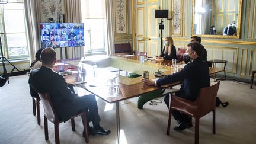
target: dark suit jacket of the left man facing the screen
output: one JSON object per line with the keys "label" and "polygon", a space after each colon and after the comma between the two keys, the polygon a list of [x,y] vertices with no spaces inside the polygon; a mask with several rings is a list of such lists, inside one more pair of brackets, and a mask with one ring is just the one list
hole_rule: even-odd
{"label": "dark suit jacket of the left man facing the screen", "polygon": [[75,106],[75,94],[68,88],[68,84],[59,73],[41,66],[40,69],[31,71],[28,83],[36,92],[49,92],[60,120],[69,120],[78,113],[79,109]]}

